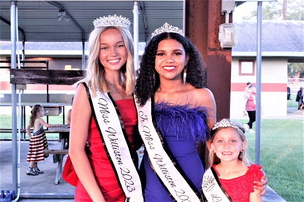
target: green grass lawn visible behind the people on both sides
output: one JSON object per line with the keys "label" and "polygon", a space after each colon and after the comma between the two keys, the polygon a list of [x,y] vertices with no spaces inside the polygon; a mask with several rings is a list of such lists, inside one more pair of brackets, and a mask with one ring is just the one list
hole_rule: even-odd
{"label": "green grass lawn visible behind the people on both sides", "polygon": [[[290,104],[296,104],[295,95]],[[46,120],[46,118],[44,119]],[[236,120],[244,124],[247,120]],[[286,201],[304,201],[303,124],[302,120],[261,120],[261,162],[268,178],[268,185]],[[49,117],[49,123],[62,124],[62,116]],[[0,115],[0,128],[11,128],[11,116]],[[255,130],[255,126],[254,126]],[[47,138],[59,138],[47,134]],[[255,134],[248,133],[248,150],[255,161]],[[0,138],[11,134],[0,133]]]}

